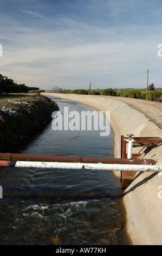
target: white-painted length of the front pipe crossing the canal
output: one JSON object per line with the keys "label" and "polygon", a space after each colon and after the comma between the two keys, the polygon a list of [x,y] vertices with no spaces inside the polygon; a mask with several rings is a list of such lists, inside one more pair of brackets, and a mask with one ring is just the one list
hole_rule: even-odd
{"label": "white-painted length of the front pipe crossing the canal", "polygon": [[124,170],[137,172],[161,172],[162,166],[145,164],[112,164],[112,163],[62,163],[17,161],[15,167],[53,168],[53,169],[85,169],[85,170]]}

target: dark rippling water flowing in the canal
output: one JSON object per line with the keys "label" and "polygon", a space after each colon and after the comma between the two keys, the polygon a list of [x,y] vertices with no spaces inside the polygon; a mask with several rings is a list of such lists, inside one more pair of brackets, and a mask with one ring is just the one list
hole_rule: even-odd
{"label": "dark rippling water flowing in the canal", "polygon": [[[94,111],[50,97],[60,112]],[[113,157],[113,133],[42,127],[10,153]],[[0,245],[129,245],[120,180],[96,170],[1,167]]]}

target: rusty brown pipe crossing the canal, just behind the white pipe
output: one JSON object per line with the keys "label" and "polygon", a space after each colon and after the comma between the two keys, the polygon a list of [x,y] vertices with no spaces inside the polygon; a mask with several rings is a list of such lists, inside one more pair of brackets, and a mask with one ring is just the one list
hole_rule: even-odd
{"label": "rusty brown pipe crossing the canal, just behind the white pipe", "polygon": [[0,160],[8,161],[44,161],[44,162],[80,162],[80,163],[120,163],[120,164],[155,164],[153,159],[115,159],[106,157],[53,156],[0,153]]}

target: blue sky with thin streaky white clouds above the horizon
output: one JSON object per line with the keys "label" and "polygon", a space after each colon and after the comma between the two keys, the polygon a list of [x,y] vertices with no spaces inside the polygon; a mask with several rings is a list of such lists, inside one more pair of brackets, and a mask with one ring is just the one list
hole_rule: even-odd
{"label": "blue sky with thin streaky white clouds above the horizon", "polygon": [[161,0],[1,0],[0,74],[50,90],[162,87]]}

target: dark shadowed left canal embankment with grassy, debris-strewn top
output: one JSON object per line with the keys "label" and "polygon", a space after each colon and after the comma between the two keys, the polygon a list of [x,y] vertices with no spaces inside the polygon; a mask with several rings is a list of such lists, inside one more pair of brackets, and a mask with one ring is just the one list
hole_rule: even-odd
{"label": "dark shadowed left canal embankment with grassy, debris-strewn top", "polygon": [[51,120],[59,107],[38,94],[0,95],[0,149],[17,143]]}

